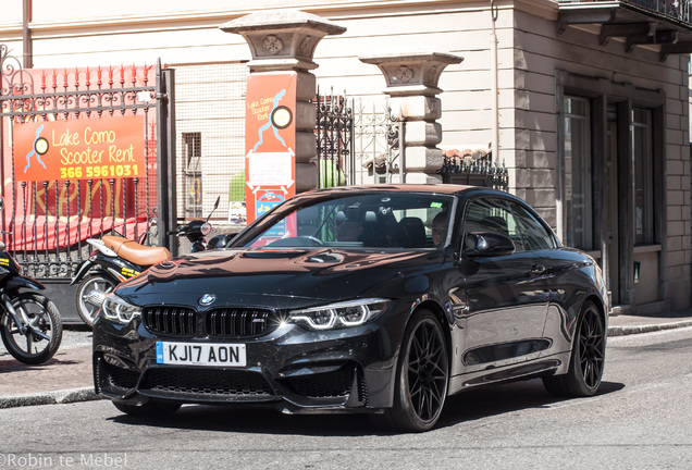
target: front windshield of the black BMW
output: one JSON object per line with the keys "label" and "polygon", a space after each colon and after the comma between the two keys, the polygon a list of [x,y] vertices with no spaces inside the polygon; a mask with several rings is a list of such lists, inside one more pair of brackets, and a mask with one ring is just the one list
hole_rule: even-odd
{"label": "front windshield of the black BMW", "polygon": [[[448,239],[453,196],[411,193],[307,199],[288,213],[264,215],[245,247],[438,248]],[[248,235],[251,237],[248,239]]]}

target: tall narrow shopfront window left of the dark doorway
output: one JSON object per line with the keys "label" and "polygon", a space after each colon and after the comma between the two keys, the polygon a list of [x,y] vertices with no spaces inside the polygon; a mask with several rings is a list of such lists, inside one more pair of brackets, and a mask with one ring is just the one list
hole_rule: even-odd
{"label": "tall narrow shopfront window left of the dark doorway", "polygon": [[593,248],[593,193],[591,187],[590,102],[566,96],[565,126],[565,239],[567,246]]}

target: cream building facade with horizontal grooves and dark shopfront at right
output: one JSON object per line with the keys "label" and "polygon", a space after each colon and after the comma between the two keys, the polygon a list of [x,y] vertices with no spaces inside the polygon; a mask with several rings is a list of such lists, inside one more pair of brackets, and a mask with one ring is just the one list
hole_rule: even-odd
{"label": "cream building facade with horizontal grooves and dark shopfront at right", "polygon": [[[382,74],[359,60],[381,48],[423,45],[464,57],[440,78],[440,147],[490,149],[509,170],[509,190],[566,245],[601,260],[615,306],[646,312],[692,302],[687,3],[69,3],[5,7],[0,44],[24,57],[25,67],[160,58],[175,69],[178,207],[187,215],[191,208],[208,213],[218,195],[233,200],[230,181],[243,168],[250,52],[219,26],[260,9],[298,8],[346,28],[314,52],[323,89],[381,102]],[[221,161],[231,170],[221,172]]]}

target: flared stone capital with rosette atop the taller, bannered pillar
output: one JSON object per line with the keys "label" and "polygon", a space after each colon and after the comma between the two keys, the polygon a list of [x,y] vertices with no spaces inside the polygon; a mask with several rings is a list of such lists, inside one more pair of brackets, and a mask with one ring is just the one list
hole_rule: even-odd
{"label": "flared stone capital with rosette atop the taller, bannered pillar", "polygon": [[252,72],[307,71],[317,69],[314,48],[328,35],[346,28],[298,10],[268,10],[251,13],[220,26],[239,34],[250,47]]}

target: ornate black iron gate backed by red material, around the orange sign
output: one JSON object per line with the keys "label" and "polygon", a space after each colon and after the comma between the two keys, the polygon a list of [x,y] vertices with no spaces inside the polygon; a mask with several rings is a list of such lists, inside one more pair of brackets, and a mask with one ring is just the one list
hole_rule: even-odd
{"label": "ornate black iron gate backed by red material, around the orange sign", "polygon": [[[86,239],[107,233],[168,246],[171,237],[165,234],[175,224],[173,71],[160,64],[156,69],[145,64],[22,70],[4,45],[0,45],[0,172],[5,202],[0,224],[2,240],[24,272],[45,281],[70,279],[88,256]],[[144,116],[145,128],[139,131],[146,168],[134,177],[122,174],[118,165],[110,170],[103,165],[96,172],[96,166],[89,166],[92,177],[88,178],[83,168],[52,181],[17,175],[15,161],[30,158],[15,154],[13,133],[20,124],[136,115]],[[37,141],[38,131],[34,151]],[[157,237],[145,237],[157,207],[163,228]]]}

